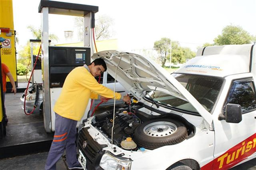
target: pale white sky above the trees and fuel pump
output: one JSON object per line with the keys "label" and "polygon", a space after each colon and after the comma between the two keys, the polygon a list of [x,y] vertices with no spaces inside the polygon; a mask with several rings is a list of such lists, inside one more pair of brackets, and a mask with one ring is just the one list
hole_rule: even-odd
{"label": "pale white sky above the trees and fuel pump", "polygon": [[[152,49],[161,38],[179,41],[192,51],[222,33],[228,25],[256,35],[256,0],[56,0],[99,6],[100,15],[113,18],[120,50]],[[13,0],[14,29],[19,44],[34,39],[28,26],[41,27],[40,0]],[[76,31],[72,16],[49,14],[49,33],[65,43],[64,31]],[[75,34],[75,32],[74,32]]]}

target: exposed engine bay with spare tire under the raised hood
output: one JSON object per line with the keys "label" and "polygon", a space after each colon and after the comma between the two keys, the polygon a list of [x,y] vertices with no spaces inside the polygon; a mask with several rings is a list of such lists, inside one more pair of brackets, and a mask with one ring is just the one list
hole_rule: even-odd
{"label": "exposed engine bay with spare tire under the raised hood", "polygon": [[[158,110],[158,114],[152,115],[143,112],[143,109],[150,109],[151,112],[154,110],[150,106],[137,103],[115,109],[115,112],[110,110],[98,114],[92,120],[92,125],[108,138],[109,142],[113,140],[113,144],[126,150],[137,150],[141,147],[156,149],[177,144],[195,132],[193,125],[178,115],[158,109],[154,110]],[[178,138],[180,140],[177,140]]]}

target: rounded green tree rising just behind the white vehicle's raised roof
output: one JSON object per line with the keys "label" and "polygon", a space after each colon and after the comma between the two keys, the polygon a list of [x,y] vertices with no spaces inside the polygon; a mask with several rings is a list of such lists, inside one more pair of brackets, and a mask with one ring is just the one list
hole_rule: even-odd
{"label": "rounded green tree rising just behind the white vehicle's raised roof", "polygon": [[241,26],[226,26],[222,30],[222,34],[218,35],[213,41],[215,45],[228,44],[248,44],[253,42],[254,37]]}

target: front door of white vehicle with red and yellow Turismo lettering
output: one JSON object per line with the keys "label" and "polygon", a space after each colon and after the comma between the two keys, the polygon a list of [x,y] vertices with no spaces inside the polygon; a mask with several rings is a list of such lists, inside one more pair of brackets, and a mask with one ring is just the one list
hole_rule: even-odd
{"label": "front door of white vehicle with red and yellow Turismo lettering", "polygon": [[254,158],[256,152],[256,91],[253,78],[232,80],[223,105],[223,114],[227,104],[241,105],[242,121],[228,123],[225,120],[214,120],[214,170],[229,169]]}

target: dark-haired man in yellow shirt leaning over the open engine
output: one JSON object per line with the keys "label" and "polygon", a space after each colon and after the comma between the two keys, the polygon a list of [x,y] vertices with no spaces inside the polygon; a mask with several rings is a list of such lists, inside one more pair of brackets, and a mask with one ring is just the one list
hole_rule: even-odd
{"label": "dark-haired man in yellow shirt leaning over the open engine", "polygon": [[128,96],[99,84],[94,77],[107,70],[103,59],[73,69],[65,79],[61,94],[54,107],[55,134],[46,160],[45,170],[56,170],[56,163],[66,149],[69,169],[83,169],[76,158],[76,124],[83,118],[89,99],[116,98],[129,103]]}

